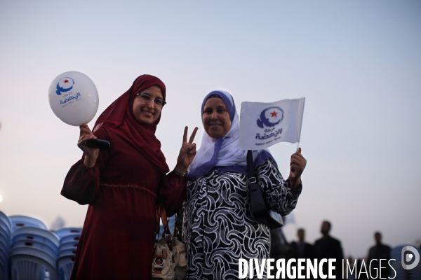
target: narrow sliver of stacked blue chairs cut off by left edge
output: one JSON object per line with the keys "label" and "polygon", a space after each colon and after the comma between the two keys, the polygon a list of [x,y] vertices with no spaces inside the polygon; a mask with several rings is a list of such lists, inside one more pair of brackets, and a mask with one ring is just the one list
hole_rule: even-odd
{"label": "narrow sliver of stacked blue chairs cut off by left edge", "polygon": [[8,279],[8,254],[11,246],[11,220],[0,211],[0,280]]}

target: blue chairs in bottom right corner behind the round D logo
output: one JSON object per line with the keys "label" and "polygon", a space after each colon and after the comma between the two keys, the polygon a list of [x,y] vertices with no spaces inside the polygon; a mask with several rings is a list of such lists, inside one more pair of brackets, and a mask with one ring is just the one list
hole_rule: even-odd
{"label": "blue chairs in bottom right corner behind the round D logo", "polygon": [[[410,245],[409,245],[410,246]],[[395,280],[412,280],[412,279],[421,279],[421,261],[418,262],[418,265],[413,269],[403,269],[402,266],[402,249],[405,246],[397,246],[392,249],[390,252],[390,258],[394,259],[390,261],[390,265],[393,267],[391,269],[389,277],[393,277],[394,273],[396,276],[394,277]],[[415,248],[415,245],[412,246]],[[419,248],[415,248],[418,254],[421,255],[421,250]]]}

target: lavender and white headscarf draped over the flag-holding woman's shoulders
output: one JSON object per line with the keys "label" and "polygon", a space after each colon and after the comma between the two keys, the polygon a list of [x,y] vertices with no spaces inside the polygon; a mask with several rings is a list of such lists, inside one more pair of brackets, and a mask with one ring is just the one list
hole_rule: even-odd
{"label": "lavender and white headscarf draped over the flag-holding woman's shoulders", "polygon": [[[188,169],[189,174],[187,174],[187,179],[189,180],[196,180],[213,168],[217,168],[220,173],[239,172],[241,174],[247,174],[247,151],[240,150],[239,148],[240,118],[236,112],[234,99],[231,94],[222,90],[210,92],[203,99],[201,115],[203,116],[206,101],[213,94],[218,95],[225,103],[231,120],[231,127],[227,134],[218,139],[212,138],[206,132],[203,132],[201,146]],[[267,149],[253,151],[253,163],[255,167],[265,161],[266,158],[272,158],[272,155]]]}

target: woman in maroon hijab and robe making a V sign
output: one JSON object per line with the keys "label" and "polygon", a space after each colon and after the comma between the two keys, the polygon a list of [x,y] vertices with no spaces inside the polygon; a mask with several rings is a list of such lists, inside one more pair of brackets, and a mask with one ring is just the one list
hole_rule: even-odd
{"label": "woman in maroon hijab and robe making a V sign", "polygon": [[[62,195],[89,204],[71,279],[151,279],[156,200],[169,216],[182,205],[187,167],[196,155],[187,127],[178,162],[169,171],[155,137],[165,105],[159,78],[138,77],[98,118],[93,132],[81,125],[83,157],[69,170]],[[88,148],[105,139],[109,151]]]}

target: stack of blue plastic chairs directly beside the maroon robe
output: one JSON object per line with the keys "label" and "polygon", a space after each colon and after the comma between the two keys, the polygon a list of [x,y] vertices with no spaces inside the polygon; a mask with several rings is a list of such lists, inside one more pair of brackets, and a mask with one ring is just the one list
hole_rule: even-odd
{"label": "stack of blue plastic chairs directly beside the maroon robe", "polygon": [[81,233],[81,228],[62,228],[61,230],[55,231],[55,234],[60,238],[57,258],[57,269],[60,280],[70,279]]}

